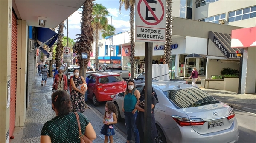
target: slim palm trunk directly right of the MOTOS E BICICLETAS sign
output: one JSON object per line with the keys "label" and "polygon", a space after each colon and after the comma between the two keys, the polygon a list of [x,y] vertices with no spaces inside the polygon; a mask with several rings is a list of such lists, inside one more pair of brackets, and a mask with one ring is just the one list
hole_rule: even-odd
{"label": "slim palm trunk directly right of the MOTOS E BICICLETAS sign", "polygon": [[163,50],[164,64],[170,64],[172,45],[172,0],[166,0],[166,43]]}

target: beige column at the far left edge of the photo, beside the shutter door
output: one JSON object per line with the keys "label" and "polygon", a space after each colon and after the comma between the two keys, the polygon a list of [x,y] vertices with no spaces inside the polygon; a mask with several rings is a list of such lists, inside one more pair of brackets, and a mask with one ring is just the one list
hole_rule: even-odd
{"label": "beige column at the far left edge of the photo, beside the shutter door", "polygon": [[10,106],[7,108],[7,81],[11,79],[11,31],[12,0],[0,0],[0,143],[6,143],[6,139],[9,142]]}

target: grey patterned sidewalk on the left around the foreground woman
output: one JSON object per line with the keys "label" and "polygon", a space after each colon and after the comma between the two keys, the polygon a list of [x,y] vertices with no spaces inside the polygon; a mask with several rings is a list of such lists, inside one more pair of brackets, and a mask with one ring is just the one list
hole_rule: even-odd
{"label": "grey patterned sidewalk on the left around the foreground woman", "polygon": [[[44,123],[55,117],[52,110],[53,79],[47,79],[47,85],[41,86],[41,76],[35,77],[31,95],[29,95],[29,107],[26,111],[26,121],[24,127],[15,127],[14,139],[11,143],[40,143],[41,129]],[[96,132],[97,138],[93,143],[103,143],[104,135],[100,133],[103,126],[102,117],[93,109],[88,107],[84,115],[90,120]],[[126,139],[116,130],[113,136],[114,143],[125,143]]]}

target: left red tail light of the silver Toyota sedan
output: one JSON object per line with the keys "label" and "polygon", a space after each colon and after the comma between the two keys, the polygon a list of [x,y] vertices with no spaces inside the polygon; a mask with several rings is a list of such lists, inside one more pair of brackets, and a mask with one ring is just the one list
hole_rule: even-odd
{"label": "left red tail light of the silver Toyota sedan", "polygon": [[180,116],[172,116],[172,118],[180,126],[204,125],[205,123],[201,118],[186,118]]}

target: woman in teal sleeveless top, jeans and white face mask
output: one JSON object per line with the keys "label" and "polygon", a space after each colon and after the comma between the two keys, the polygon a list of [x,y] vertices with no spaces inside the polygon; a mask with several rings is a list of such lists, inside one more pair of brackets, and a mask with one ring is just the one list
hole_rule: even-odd
{"label": "woman in teal sleeveless top, jeans and white face mask", "polygon": [[135,105],[137,100],[140,98],[139,90],[135,89],[135,83],[133,79],[128,80],[126,91],[124,93],[124,101],[122,104],[122,111],[125,114],[125,124],[127,130],[127,142],[131,141],[131,132],[134,132],[135,143],[140,143],[139,131],[136,127],[136,118],[137,118],[137,109],[135,109]]}

